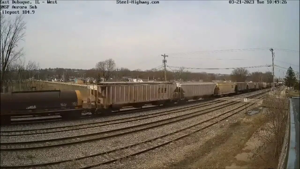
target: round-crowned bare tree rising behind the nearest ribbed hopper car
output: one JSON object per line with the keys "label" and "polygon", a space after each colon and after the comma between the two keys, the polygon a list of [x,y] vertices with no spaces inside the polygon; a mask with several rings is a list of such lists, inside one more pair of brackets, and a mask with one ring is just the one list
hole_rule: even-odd
{"label": "round-crowned bare tree rising behind the nearest ribbed hopper car", "polygon": [[104,81],[112,77],[115,68],[116,63],[113,59],[100,61],[96,64],[96,69],[101,71]]}

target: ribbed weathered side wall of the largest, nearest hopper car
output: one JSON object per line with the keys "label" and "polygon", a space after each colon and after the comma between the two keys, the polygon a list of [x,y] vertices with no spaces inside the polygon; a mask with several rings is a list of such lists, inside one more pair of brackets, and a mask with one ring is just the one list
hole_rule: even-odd
{"label": "ribbed weathered side wall of the largest, nearest hopper car", "polygon": [[173,84],[133,84],[98,86],[98,98],[104,107],[171,99]]}

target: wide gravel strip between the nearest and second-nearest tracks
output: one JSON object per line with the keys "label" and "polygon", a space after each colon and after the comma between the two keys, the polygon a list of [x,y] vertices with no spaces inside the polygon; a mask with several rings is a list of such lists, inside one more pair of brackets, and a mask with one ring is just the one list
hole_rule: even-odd
{"label": "wide gravel strip between the nearest and second-nearest tracks", "polygon": [[[239,104],[235,105],[237,107]],[[65,147],[57,147],[51,149],[42,149],[34,151],[18,151],[18,152],[1,152],[1,165],[24,165],[24,164],[37,164],[50,161],[60,161],[66,159],[72,159],[82,157],[85,155],[91,155],[100,153],[103,151],[109,151],[112,149],[118,149],[124,146],[128,146],[134,143],[140,143],[155,137],[159,137],[170,132],[178,131],[186,126],[197,124],[200,121],[207,120],[221,112],[232,109],[224,108],[221,111],[217,110],[205,115],[200,115],[190,119],[185,119],[179,122],[159,126],[156,128],[139,131],[131,134],[125,134],[119,137],[113,137],[103,140],[97,140],[89,143],[81,143]]]}

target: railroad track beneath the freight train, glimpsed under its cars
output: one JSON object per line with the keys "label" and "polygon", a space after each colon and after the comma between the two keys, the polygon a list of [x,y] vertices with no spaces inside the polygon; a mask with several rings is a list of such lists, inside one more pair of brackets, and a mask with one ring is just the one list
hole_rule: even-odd
{"label": "railroad track beneath the freight train, glimpsed under its cars", "polygon": [[[235,93],[233,94],[228,94],[226,96],[233,96],[236,95]],[[186,102],[186,103],[180,103],[180,104],[189,104],[189,103],[195,103],[195,102],[203,102],[203,101],[207,101],[207,100],[212,100],[214,98],[207,98],[207,99],[203,99],[203,100],[193,100],[190,102]],[[174,105],[170,105],[170,106],[164,106],[164,107],[171,107]],[[114,111],[113,113],[116,114],[125,114],[125,113],[132,113],[132,112],[140,112],[140,111],[148,111],[148,110],[152,110],[152,109],[159,109],[163,106],[151,106],[151,107],[143,107],[143,108],[133,108],[133,109],[127,109],[127,110],[119,110],[119,111]],[[90,112],[89,112],[90,113]],[[102,114],[100,114],[102,115]],[[34,116],[30,117],[33,119],[22,119],[22,120],[13,120],[13,119],[18,119],[16,117],[12,117],[11,119],[11,124],[33,124],[33,123],[44,123],[44,122],[52,122],[52,121],[63,121],[63,118],[61,117],[49,117],[49,116],[41,116],[44,118],[34,118]],[[93,115],[89,114],[89,115],[82,115],[81,118],[91,118],[94,117]]]}

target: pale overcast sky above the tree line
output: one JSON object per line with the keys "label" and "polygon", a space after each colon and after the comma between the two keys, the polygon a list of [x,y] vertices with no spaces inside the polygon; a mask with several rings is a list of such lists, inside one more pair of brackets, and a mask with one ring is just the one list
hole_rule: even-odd
{"label": "pale overcast sky above the tree line", "polygon": [[[31,2],[35,5],[35,1]],[[26,52],[26,61],[37,61],[41,68],[76,69],[93,68],[96,62],[108,58],[114,59],[119,68],[152,69],[162,64],[161,54],[169,55],[169,66],[247,67],[271,64],[271,52],[267,49],[270,47],[299,51],[299,1],[254,3],[164,0],[137,5],[117,4],[115,0],[59,0],[57,4],[45,1],[37,4],[35,14],[25,14],[26,41],[20,45]],[[266,49],[199,52],[248,48]],[[274,64],[288,68],[291,63],[299,71],[298,52],[274,52]],[[248,70],[258,69],[271,71],[271,67]],[[282,76],[284,69],[280,69]],[[229,74],[232,70],[190,71]],[[278,74],[275,68],[277,77]]]}

